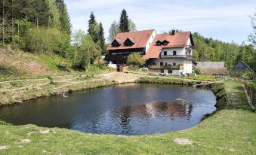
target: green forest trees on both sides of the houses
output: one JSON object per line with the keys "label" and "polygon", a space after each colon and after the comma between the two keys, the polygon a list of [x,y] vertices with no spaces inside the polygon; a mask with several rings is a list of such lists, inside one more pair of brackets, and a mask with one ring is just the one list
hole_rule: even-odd
{"label": "green forest trees on both sides of the houses", "polygon": [[[0,47],[11,44],[30,53],[57,53],[72,62],[72,68],[85,70],[99,56],[107,55],[103,24],[91,12],[88,32],[72,26],[63,0],[2,0],[0,2]],[[251,17],[251,44],[226,43],[193,33],[196,61],[224,61],[232,69],[244,61],[256,71],[255,17]],[[85,21],[86,22],[86,21]],[[119,23],[113,20],[108,42],[118,32],[136,31],[136,25],[122,10]]]}

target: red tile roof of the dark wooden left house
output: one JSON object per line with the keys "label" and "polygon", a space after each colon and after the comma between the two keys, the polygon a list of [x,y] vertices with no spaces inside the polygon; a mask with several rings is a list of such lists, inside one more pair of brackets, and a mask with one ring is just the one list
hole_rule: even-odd
{"label": "red tile roof of the dark wooden left house", "polygon": [[[118,33],[115,37],[116,41],[119,43],[122,43],[119,47],[112,47],[111,44],[109,44],[109,47],[107,50],[123,50],[123,49],[131,49],[131,48],[145,48],[147,41],[149,41],[150,36],[154,32],[154,29],[144,30],[144,31],[137,31],[137,32],[123,32]],[[131,41],[134,42],[134,44],[130,47],[126,47],[123,43],[125,40],[129,38]]]}

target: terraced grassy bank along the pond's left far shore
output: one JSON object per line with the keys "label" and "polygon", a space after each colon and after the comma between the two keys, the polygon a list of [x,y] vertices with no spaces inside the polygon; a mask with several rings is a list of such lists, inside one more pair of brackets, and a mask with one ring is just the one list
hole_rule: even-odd
{"label": "terraced grassy bank along the pond's left far shore", "polygon": [[15,100],[25,101],[59,93],[86,90],[115,84],[100,75],[72,74],[41,79],[0,82],[0,104],[14,104]]}

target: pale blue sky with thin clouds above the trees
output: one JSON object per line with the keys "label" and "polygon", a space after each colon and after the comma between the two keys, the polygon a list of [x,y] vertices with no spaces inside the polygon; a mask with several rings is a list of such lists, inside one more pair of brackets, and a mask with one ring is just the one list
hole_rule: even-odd
{"label": "pale blue sky with thin clouds above the trees", "polygon": [[256,0],[64,0],[72,23],[72,32],[87,32],[91,11],[103,24],[105,37],[122,9],[137,30],[171,29],[199,32],[207,38],[242,44],[252,32],[250,15],[256,12]]}

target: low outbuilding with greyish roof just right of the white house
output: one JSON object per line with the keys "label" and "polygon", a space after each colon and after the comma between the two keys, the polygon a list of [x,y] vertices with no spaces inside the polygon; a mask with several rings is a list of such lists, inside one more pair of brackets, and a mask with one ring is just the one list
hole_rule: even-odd
{"label": "low outbuilding with greyish roof just right of the white house", "polygon": [[193,62],[193,66],[202,74],[227,74],[225,62]]}

